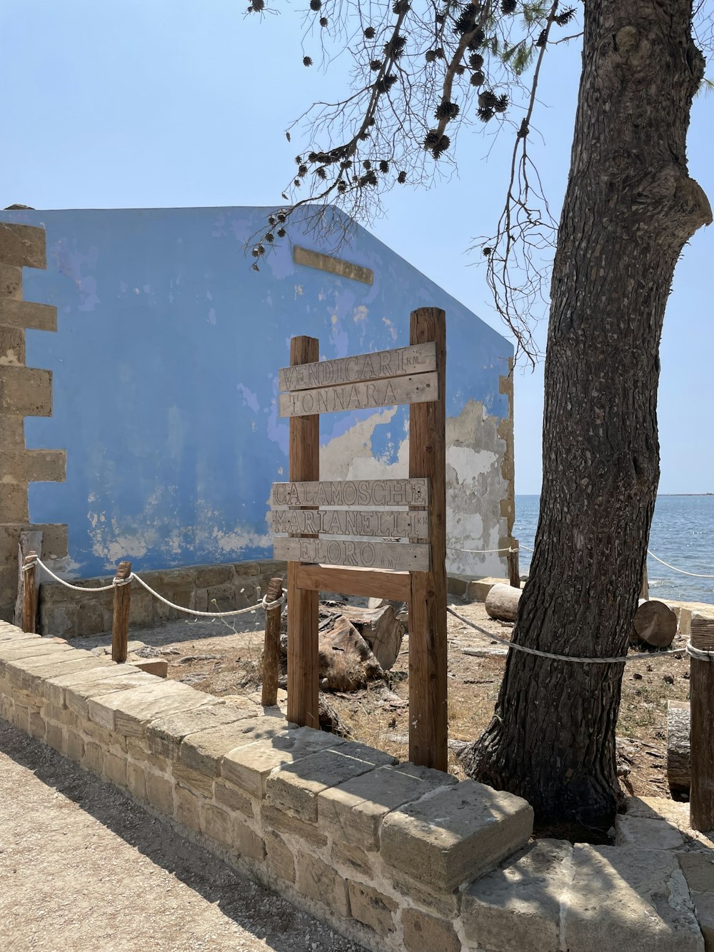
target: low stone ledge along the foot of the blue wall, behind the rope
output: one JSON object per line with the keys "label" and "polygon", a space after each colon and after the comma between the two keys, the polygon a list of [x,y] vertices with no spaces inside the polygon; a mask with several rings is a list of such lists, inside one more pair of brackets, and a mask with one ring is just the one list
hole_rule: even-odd
{"label": "low stone ledge along the foot of the blue wall, behind the rope", "polygon": [[[265,595],[273,576],[286,577],[284,562],[236,562],[228,565],[186,565],[158,572],[141,572],[141,577],[174,605],[197,611],[232,611],[255,605]],[[113,592],[92,591],[109,585],[112,576],[87,579],[87,593],[74,591],[59,582],[40,585],[40,632],[76,638],[111,630]],[[72,580],[72,585],[76,585]],[[260,596],[258,590],[260,589]],[[129,625],[161,625],[187,616],[159,602],[137,583],[131,585]]]}

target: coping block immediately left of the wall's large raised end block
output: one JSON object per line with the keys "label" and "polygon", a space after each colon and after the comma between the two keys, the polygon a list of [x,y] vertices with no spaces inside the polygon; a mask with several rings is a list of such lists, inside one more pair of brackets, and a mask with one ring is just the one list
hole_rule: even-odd
{"label": "coping block immediately left of the wall's large raised end block", "polygon": [[455,784],[450,774],[428,767],[380,767],[321,793],[317,799],[318,825],[345,843],[377,850],[380,827],[390,810]]}

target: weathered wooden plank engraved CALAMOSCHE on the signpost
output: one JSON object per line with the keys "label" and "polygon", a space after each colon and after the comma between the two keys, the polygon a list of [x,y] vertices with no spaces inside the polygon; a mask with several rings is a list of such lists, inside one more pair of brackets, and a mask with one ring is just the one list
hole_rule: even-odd
{"label": "weathered wooden plank engraved CALAMOSCHE on the signpost", "polygon": [[358,479],[337,482],[273,483],[270,505],[428,506],[427,479]]}

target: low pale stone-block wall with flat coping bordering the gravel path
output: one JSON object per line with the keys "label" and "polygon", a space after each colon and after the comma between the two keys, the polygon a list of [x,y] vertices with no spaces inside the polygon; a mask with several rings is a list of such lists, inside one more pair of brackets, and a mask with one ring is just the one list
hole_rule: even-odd
{"label": "low pale stone-block wall with flat coping bordering the gravel path", "polygon": [[534,842],[518,797],[6,624],[0,716],[375,952],[714,948],[681,804],[631,803],[622,845]]}

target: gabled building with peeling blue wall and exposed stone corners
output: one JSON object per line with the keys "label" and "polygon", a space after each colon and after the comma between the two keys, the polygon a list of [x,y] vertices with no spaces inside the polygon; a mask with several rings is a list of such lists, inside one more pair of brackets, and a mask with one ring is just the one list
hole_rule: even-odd
{"label": "gabled building with peeling blue wall and exposed stone corners", "polygon": [[[408,344],[447,315],[447,568],[505,574],[513,526],[513,348],[351,223],[336,252],[293,234],[251,270],[266,208],[0,212],[0,617],[20,532],[66,577],[270,558],[287,479],[278,368]],[[321,253],[322,252],[322,253]],[[328,252],[332,257],[326,257]],[[24,269],[24,270],[23,270]],[[325,414],[324,479],[407,475],[408,407]]]}

